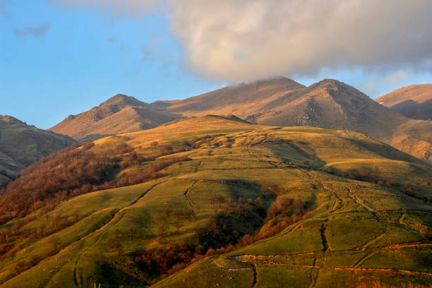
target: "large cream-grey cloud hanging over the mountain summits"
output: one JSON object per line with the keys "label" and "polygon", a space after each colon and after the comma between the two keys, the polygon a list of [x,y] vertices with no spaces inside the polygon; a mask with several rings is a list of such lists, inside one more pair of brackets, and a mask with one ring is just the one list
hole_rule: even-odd
{"label": "large cream-grey cloud hanging over the mountain summits", "polygon": [[[133,15],[157,6],[153,0],[56,1]],[[235,81],[358,67],[385,74],[425,68],[432,59],[430,0],[162,3],[188,66],[208,78]]]}

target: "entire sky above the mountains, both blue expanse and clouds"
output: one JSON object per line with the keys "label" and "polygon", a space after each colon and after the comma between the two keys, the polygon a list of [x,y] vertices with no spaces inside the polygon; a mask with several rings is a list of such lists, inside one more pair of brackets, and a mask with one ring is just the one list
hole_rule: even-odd
{"label": "entire sky above the mountains, both blue expanse and clouds", "polygon": [[432,83],[430,0],[0,0],[0,114],[49,128],[287,76],[370,97]]}

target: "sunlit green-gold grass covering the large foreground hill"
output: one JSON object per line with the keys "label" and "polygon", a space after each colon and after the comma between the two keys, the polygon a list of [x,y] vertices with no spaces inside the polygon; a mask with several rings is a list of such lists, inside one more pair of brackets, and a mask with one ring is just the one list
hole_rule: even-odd
{"label": "sunlit green-gold grass covering the large foreground hill", "polygon": [[[197,148],[185,142],[206,135],[214,137]],[[362,281],[427,284],[432,280],[430,275],[401,271],[332,269],[431,272],[431,246],[416,246],[418,241],[431,243],[431,203],[407,196],[399,188],[345,175],[361,169],[382,179],[414,179],[420,183],[419,193],[429,193],[426,180],[432,179],[432,168],[428,164],[359,133],[269,128],[222,116],[174,121],[148,131],[103,138],[95,141],[92,150],[102,152],[127,143],[142,155],[152,155],[153,141],[186,149],[162,158],[187,156],[191,160],[163,169],[163,176],[155,181],[71,198],[21,227],[24,235],[25,230],[50,224],[55,215],[76,217],[55,234],[11,239],[16,253],[0,262],[0,288],[92,287],[95,282],[102,287],[251,287],[253,282],[255,287],[308,287],[313,283],[315,287],[356,287]],[[343,173],[328,174],[328,167]],[[262,191],[268,189],[275,195],[263,198]],[[197,227],[205,227],[216,208],[224,208],[224,203],[212,203],[213,196],[234,202],[262,197],[269,207],[279,195],[300,199],[309,216],[268,239],[205,258],[162,280],[125,263],[134,251],[173,241],[196,243]],[[188,209],[195,217],[178,217],[173,212]],[[158,235],[161,222],[165,223],[164,236]],[[54,253],[53,237],[59,243]],[[116,257],[112,239],[119,239],[122,256]],[[408,242],[414,246],[398,246]],[[265,263],[256,262],[257,257]],[[17,275],[18,263],[35,258],[36,263]],[[113,260],[117,258],[120,260]],[[119,263],[113,264],[115,261]]]}

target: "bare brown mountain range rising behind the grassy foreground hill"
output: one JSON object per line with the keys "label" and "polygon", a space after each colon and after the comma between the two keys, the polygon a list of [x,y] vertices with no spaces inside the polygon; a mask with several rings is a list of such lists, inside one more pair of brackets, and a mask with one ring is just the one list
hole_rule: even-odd
{"label": "bare brown mountain range rising behind the grassy foreground hill", "polygon": [[270,78],[151,104],[116,95],[88,112],[68,116],[51,130],[85,142],[207,114],[233,114],[253,124],[356,131],[432,160],[432,121],[409,119],[331,79],[306,87],[288,78]]}

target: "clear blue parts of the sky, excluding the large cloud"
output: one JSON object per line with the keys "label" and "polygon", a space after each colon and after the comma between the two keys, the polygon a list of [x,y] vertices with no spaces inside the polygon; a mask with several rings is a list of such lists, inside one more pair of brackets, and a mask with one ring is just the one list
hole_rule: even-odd
{"label": "clear blue parts of the sky, excluding the large cloud", "polygon": [[[199,61],[198,68],[190,65],[189,40],[172,27],[171,16],[161,9],[129,15],[61,0],[0,0],[0,114],[49,128],[117,93],[153,102],[233,81],[229,73],[209,76]],[[285,75],[305,85],[336,78],[371,97],[432,82],[427,69],[411,66],[383,72],[349,65]]]}

